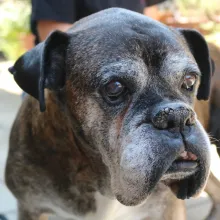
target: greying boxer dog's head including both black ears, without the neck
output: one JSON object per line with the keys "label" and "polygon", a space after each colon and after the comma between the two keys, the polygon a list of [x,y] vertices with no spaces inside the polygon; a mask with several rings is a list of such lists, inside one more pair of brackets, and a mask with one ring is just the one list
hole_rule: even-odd
{"label": "greying boxer dog's head including both black ears, without the neck", "polygon": [[63,97],[121,203],[139,204],[158,182],[181,199],[204,188],[210,142],[193,103],[209,96],[211,64],[199,33],[109,9],[52,33],[10,71],[41,110],[44,88]]}

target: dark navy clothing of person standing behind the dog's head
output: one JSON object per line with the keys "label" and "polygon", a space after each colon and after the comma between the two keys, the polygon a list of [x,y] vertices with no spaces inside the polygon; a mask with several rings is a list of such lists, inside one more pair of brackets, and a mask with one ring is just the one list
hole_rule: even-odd
{"label": "dark navy clothing of person standing behind the dog's head", "polygon": [[165,0],[32,0],[31,31],[39,43],[36,24],[39,20],[74,23],[79,19],[111,7],[143,12],[144,7]]}

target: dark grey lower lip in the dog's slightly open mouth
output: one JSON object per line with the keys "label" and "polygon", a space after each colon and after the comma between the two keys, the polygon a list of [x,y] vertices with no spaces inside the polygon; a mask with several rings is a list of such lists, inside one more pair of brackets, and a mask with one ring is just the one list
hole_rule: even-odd
{"label": "dark grey lower lip in the dog's slightly open mouth", "polygon": [[174,161],[168,171],[192,171],[195,170],[197,166],[198,163],[196,161]]}

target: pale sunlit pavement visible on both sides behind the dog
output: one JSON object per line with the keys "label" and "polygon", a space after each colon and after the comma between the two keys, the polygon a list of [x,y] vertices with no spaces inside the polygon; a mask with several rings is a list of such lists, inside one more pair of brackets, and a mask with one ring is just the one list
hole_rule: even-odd
{"label": "pale sunlit pavement visible on both sides behind the dog", "polygon": [[[16,200],[4,183],[9,132],[21,105],[21,90],[7,71],[10,65],[11,62],[0,62],[0,214],[4,214],[8,220],[16,220]],[[188,220],[203,220],[211,208],[211,201],[203,193],[200,198],[187,200],[186,207]]]}

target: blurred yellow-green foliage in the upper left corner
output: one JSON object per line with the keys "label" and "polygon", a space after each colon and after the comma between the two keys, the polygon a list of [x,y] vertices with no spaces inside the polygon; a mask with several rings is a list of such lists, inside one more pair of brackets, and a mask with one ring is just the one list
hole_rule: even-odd
{"label": "blurred yellow-green foliage in the upper left corner", "polygon": [[30,3],[27,0],[0,3],[0,51],[8,59],[24,52],[21,37],[30,32]]}

